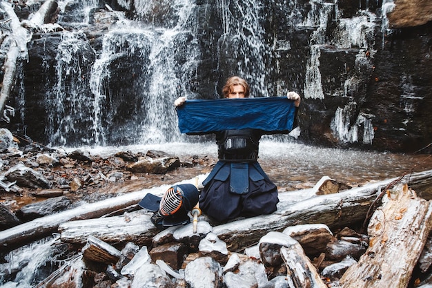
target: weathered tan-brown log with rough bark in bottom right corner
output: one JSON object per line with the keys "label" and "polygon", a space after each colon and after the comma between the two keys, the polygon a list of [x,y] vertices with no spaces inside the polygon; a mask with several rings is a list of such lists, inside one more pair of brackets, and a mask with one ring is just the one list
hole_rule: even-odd
{"label": "weathered tan-brown log with rough bark in bottom right corner", "polygon": [[432,202],[400,186],[369,222],[369,248],[340,279],[342,288],[407,287],[432,227]]}

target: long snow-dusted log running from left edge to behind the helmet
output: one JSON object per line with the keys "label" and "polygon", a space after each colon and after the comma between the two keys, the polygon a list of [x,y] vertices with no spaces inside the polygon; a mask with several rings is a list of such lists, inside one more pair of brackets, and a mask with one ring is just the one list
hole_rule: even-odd
{"label": "long snow-dusted log running from left edge to behind the helmet", "polygon": [[[201,178],[199,180],[202,181],[205,176],[206,175],[200,175],[199,177]],[[185,180],[184,182],[180,182],[180,184],[195,184],[197,181],[195,178],[196,177],[190,180]],[[71,220],[99,218],[108,213],[123,209],[124,207],[129,207],[132,204],[137,204],[147,193],[153,193],[159,196],[164,195],[165,191],[169,187],[170,185],[163,185],[152,189],[144,189],[127,193],[116,198],[109,198],[95,203],[84,203],[75,209],[62,211],[43,218],[37,218],[30,222],[6,229],[0,233],[1,253],[6,253],[11,249],[22,246],[22,244],[26,244],[28,242],[48,236],[51,233],[55,233],[57,232],[57,228],[61,223]],[[109,221],[110,220],[108,220],[108,222]],[[151,224],[150,221],[148,222]]]}

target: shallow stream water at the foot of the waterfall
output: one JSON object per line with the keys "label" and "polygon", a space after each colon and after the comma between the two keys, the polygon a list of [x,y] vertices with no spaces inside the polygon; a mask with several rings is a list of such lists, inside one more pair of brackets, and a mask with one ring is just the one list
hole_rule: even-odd
{"label": "shallow stream water at the foot of the waterfall", "polygon": [[[180,159],[190,155],[217,158],[217,146],[213,142],[88,148],[93,155],[110,155],[117,151],[146,153],[149,149],[165,151]],[[313,186],[323,176],[357,186],[373,180],[399,177],[411,170],[418,172],[432,169],[431,155],[320,148],[268,140],[262,141],[259,146],[258,161],[275,184],[288,191]],[[208,167],[196,166],[182,169],[180,173],[184,179],[188,179],[208,171]]]}

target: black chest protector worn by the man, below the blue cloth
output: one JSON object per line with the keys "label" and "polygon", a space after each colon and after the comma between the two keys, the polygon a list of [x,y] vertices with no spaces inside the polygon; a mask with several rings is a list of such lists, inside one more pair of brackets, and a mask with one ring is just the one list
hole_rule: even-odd
{"label": "black chest protector worn by the man, below the blue cloth", "polygon": [[253,129],[227,130],[216,136],[219,160],[251,162],[258,159],[259,135]]}

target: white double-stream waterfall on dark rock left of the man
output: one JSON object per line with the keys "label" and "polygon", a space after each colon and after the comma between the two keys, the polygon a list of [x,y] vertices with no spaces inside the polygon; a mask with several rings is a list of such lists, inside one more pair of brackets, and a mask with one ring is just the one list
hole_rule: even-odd
{"label": "white double-stream waterfall on dark rock left of the man", "polygon": [[[83,12],[76,13],[81,25],[88,23],[88,11],[96,4],[87,3]],[[148,15],[150,4],[135,1],[138,14]],[[104,34],[101,50],[92,52],[95,59],[79,59],[86,57],[79,53],[88,45],[82,32],[62,33],[55,65],[57,83],[46,103],[51,144],[181,140],[173,102],[179,96],[194,97],[190,79],[197,73],[199,46],[191,31],[193,1],[177,0],[170,9],[175,16],[166,26],[126,19],[116,12],[113,17],[118,20]],[[90,66],[88,75],[82,66]],[[123,87],[118,82],[128,84]]]}

